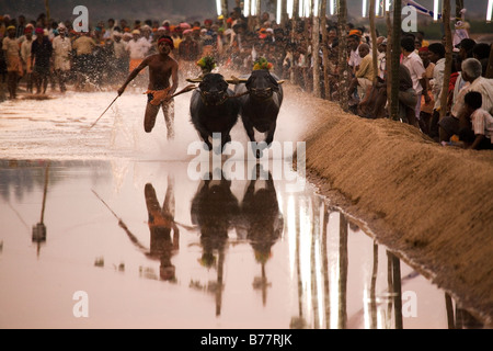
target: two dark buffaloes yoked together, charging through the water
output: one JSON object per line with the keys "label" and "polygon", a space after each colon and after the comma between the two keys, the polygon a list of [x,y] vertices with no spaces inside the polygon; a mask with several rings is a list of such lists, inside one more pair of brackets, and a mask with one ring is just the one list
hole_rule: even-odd
{"label": "two dark buffaloes yoked together, charging through the water", "polygon": [[[234,91],[229,89],[229,83],[236,84]],[[205,75],[192,94],[190,112],[192,124],[208,150],[213,149],[209,140],[213,134],[220,133],[221,148],[231,141],[230,132],[240,115],[250,141],[255,141],[256,129],[266,134],[265,143],[270,146],[283,103],[280,84],[266,69],[230,81],[219,73]]]}

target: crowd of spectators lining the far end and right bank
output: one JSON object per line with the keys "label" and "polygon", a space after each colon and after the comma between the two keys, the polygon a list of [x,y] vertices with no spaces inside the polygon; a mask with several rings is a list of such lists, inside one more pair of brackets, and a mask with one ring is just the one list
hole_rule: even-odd
{"label": "crowd of spectators lining the far end and right bank", "polygon": [[[169,35],[173,38],[172,56],[180,64],[181,78],[198,76],[200,70],[196,61],[205,56],[213,56],[219,67],[240,73],[249,73],[254,61],[265,57],[273,64],[276,76],[290,79],[303,90],[311,91],[316,61],[309,39],[311,25],[303,20],[298,21],[296,27],[291,23],[288,21],[280,26],[268,13],[264,13],[252,24],[251,19],[244,18],[241,9],[236,8],[228,18],[221,15],[203,22],[136,20],[128,23],[126,20],[110,19],[98,23],[89,32],[77,32],[70,21],[48,22],[44,14],[30,22],[23,15],[16,19],[3,15],[0,18],[0,79],[5,82],[11,99],[15,99],[20,82],[24,82],[26,91],[33,93],[46,93],[48,84],[61,92],[66,91],[67,84],[73,84],[76,90],[117,86],[146,56],[157,53],[156,43],[161,36]],[[340,36],[336,23],[329,21],[325,30],[326,42],[321,43],[318,55],[323,75],[321,84],[328,79],[330,89],[321,87],[321,91],[323,98],[336,101],[345,91],[339,89]],[[378,72],[375,72],[374,44],[369,33],[351,23],[345,31],[351,75],[347,98],[352,111],[367,118],[389,116],[387,38],[377,33]],[[400,118],[437,141],[449,143],[451,137],[459,135],[468,135],[467,140],[472,140],[471,135],[462,129],[468,126],[471,129],[474,125],[470,115],[481,115],[484,120],[481,124],[483,135],[491,140],[493,80],[485,78],[491,45],[469,37],[461,38],[455,45],[446,106],[440,103],[445,42],[429,44],[423,32],[402,33],[400,49]],[[323,67],[328,69],[324,71]],[[141,78],[144,81],[145,77]],[[467,110],[462,106],[467,104],[465,95],[469,91],[482,94],[482,104],[475,110],[485,113],[462,113]],[[469,103],[469,106],[475,105],[474,102]],[[439,117],[442,109],[447,109],[446,118]],[[475,143],[474,147],[478,145],[484,148],[486,143]]]}

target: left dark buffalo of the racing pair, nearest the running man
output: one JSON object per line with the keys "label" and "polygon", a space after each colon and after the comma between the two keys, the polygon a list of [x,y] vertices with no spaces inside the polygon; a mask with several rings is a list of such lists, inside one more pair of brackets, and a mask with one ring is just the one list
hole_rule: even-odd
{"label": "left dark buffalo of the racing pair, nearest the running man", "polygon": [[231,141],[230,132],[238,122],[240,102],[231,99],[234,92],[219,73],[205,75],[198,82],[190,104],[192,124],[208,150],[213,149],[209,138],[220,133],[222,148]]}

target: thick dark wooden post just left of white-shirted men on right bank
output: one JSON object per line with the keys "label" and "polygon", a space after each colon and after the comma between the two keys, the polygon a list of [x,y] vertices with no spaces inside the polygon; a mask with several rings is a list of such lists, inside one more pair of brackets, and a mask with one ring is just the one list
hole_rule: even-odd
{"label": "thick dark wooden post just left of white-shirted men on right bank", "polygon": [[393,31],[392,31],[392,88],[391,88],[391,105],[390,116],[394,121],[399,121],[399,67],[401,56],[401,1],[393,1]]}

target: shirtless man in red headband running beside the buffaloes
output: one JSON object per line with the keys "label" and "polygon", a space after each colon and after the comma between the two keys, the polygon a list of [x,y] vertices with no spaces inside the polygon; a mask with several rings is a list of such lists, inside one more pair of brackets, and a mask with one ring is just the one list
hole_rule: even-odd
{"label": "shirtless man in red headband running beside the buffaloes", "polygon": [[[136,78],[142,69],[149,66],[149,86],[148,91],[146,92],[148,102],[144,118],[144,129],[146,133],[152,131],[159,109],[162,107],[168,128],[168,139],[174,138],[174,101],[171,97],[176,91],[179,81],[177,63],[170,57],[173,47],[173,39],[170,36],[162,36],[159,38],[159,54],[146,57],[144,61],[131,71],[122,88],[118,89],[118,95],[122,95],[128,83]],[[170,78],[173,81],[171,87]]]}

